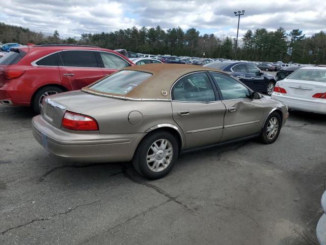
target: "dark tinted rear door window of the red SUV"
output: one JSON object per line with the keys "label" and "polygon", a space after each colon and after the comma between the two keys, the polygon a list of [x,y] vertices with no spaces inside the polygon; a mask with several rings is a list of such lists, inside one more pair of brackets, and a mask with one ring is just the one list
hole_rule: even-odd
{"label": "dark tinted rear door window of the red SUV", "polygon": [[69,50],[60,52],[64,66],[98,67],[94,51]]}

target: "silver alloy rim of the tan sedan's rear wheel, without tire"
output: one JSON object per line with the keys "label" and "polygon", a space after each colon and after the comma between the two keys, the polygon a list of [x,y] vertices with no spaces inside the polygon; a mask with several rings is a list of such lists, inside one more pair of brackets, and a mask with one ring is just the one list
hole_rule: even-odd
{"label": "silver alloy rim of the tan sedan's rear wheel, without tire", "polygon": [[158,139],[147,151],[146,162],[150,170],[159,172],[166,169],[172,161],[173,147],[169,140]]}

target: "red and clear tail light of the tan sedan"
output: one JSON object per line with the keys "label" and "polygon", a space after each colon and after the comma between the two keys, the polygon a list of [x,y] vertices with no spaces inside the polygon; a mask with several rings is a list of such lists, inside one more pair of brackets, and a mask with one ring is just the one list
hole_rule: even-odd
{"label": "red and clear tail light of the tan sedan", "polygon": [[80,131],[98,130],[97,121],[94,118],[70,111],[65,112],[61,127]]}

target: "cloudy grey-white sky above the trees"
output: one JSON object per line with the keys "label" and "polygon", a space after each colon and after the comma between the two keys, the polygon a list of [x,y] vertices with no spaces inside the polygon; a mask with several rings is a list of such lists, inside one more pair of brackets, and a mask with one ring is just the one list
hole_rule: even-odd
{"label": "cloudy grey-white sky above the trees", "polygon": [[196,28],[201,34],[240,36],[248,29],[301,29],[306,35],[326,31],[325,0],[5,0],[0,21],[61,36],[110,32],[135,27]]}

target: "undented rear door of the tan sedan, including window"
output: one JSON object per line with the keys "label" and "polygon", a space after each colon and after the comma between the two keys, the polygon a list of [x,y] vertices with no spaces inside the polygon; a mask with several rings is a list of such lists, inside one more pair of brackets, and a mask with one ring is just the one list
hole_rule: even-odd
{"label": "undented rear door of the tan sedan, including window", "polygon": [[173,119],[185,135],[185,149],[221,140],[226,109],[207,72],[179,79],[171,96]]}

